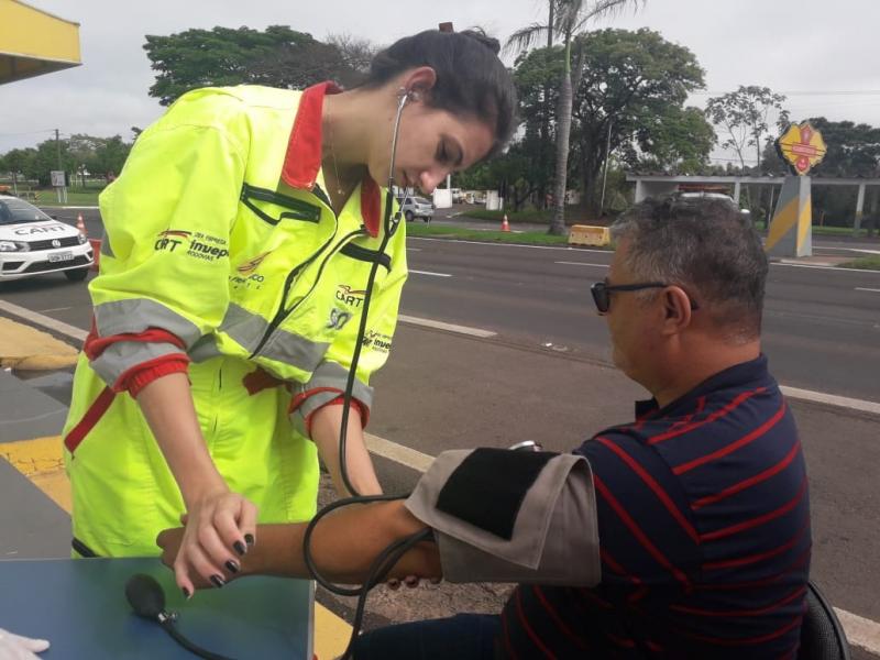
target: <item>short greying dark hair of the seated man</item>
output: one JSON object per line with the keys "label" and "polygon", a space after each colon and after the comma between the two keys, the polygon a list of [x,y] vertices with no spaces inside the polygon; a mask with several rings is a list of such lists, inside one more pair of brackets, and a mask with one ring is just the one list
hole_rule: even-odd
{"label": "short greying dark hair of the seated man", "polygon": [[612,237],[626,241],[627,266],[639,280],[682,287],[730,340],[760,334],[767,256],[733,201],[649,198],[612,227]]}

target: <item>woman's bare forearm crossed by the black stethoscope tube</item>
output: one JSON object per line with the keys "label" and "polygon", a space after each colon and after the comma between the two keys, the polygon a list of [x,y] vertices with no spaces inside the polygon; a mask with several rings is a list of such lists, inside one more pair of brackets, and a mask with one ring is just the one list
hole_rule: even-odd
{"label": "woman's bare forearm crossed by the black stethoscope tube", "polygon": [[[342,406],[324,406],[317,410],[311,421],[311,439],[318,446],[327,470],[333,480],[337,493],[349,496],[342,482],[339,465],[339,430],[342,428]],[[361,414],[356,406],[349,414],[348,435],[345,439],[345,472],[359,495],[380,495],[382,486],[376,479],[373,461],[364,442]]]}

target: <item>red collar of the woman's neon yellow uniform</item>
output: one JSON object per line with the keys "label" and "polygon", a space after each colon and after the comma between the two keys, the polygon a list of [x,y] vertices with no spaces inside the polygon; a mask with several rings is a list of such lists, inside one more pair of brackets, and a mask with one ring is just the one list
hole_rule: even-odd
{"label": "red collar of the woman's neon yellow uniform", "polygon": [[[334,82],[319,82],[302,91],[299,99],[294,128],[287,141],[282,179],[293,188],[312,190],[321,169],[323,99],[328,94],[339,94],[342,89]],[[370,235],[375,238],[380,230],[382,212],[378,184],[367,174],[361,182],[361,213]]]}

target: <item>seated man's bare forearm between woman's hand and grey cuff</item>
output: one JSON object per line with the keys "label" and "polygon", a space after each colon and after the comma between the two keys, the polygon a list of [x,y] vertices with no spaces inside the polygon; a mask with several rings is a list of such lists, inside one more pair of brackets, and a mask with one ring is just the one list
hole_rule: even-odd
{"label": "seated man's bare forearm between woman's hand and grey cuff", "polygon": [[[322,576],[339,583],[362,583],[380,552],[421,529],[425,525],[403,501],[351,505],[318,522],[311,536],[311,556]],[[306,524],[260,525],[260,541],[242,561],[243,573],[310,578],[302,558],[305,534]],[[437,547],[425,542],[407,552],[389,576],[441,574]]]}

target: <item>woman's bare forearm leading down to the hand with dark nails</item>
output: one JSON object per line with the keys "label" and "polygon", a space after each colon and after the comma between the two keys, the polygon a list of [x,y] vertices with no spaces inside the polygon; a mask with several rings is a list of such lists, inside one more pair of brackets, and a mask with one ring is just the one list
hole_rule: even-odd
{"label": "woman's bare forearm leading down to the hand with dark nails", "polygon": [[188,507],[226,488],[202,438],[186,374],[156,378],[140,392],[138,404]]}

